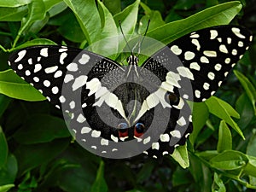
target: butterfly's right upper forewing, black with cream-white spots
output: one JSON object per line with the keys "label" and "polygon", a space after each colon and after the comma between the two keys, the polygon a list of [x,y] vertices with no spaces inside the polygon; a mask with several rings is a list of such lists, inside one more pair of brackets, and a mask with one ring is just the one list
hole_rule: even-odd
{"label": "butterfly's right upper forewing, black with cream-white spots", "polygon": [[182,63],[171,63],[166,47],[148,59],[143,68],[177,87],[184,99],[203,102],[218,90],[252,40],[251,32],[241,26],[213,26],[167,45]]}

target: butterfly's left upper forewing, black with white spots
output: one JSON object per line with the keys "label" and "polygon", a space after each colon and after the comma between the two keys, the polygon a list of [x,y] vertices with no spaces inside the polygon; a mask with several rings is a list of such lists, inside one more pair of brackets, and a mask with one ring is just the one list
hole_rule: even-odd
{"label": "butterfly's left upper forewing, black with white spots", "polygon": [[[72,82],[73,90],[77,90],[91,79],[101,80],[106,73],[119,67],[116,62],[86,50],[77,58],[81,51],[82,49],[58,45],[28,47],[12,53],[9,56],[9,66],[39,90],[49,102],[61,108],[63,84]],[[81,68],[84,72],[86,69],[90,70],[90,74],[84,76],[84,84],[79,84],[83,83],[83,79],[73,76],[78,74]]]}

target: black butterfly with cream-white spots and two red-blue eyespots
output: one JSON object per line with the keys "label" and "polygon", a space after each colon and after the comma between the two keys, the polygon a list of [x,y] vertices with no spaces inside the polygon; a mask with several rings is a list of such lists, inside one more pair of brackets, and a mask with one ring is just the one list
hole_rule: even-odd
{"label": "black butterfly with cream-white spots and two red-blue eyespots", "polygon": [[172,154],[193,130],[186,100],[204,102],[248,49],[241,26],[213,26],[178,38],[138,66],[88,50],[38,45],[15,51],[9,66],[56,108],[79,144],[110,158]]}

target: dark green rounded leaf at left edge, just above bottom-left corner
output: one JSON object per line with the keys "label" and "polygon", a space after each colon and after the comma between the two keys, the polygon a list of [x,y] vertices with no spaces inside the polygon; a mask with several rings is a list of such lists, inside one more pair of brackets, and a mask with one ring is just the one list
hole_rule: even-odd
{"label": "dark green rounded leaf at left edge, just above bottom-left corner", "polygon": [[0,185],[14,183],[17,172],[17,160],[13,154],[9,154],[5,166],[0,167]]}

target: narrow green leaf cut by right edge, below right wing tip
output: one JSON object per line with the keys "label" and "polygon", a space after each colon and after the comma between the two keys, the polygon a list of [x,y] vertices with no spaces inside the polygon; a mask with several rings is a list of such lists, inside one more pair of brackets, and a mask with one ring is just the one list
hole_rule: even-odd
{"label": "narrow green leaf cut by right edge, below right wing tip", "polygon": [[247,93],[247,96],[250,98],[254,108],[254,114],[256,115],[256,89],[253,84],[245,77],[242,73],[234,70],[237,79],[239,79],[241,85],[243,86],[244,90]]}

